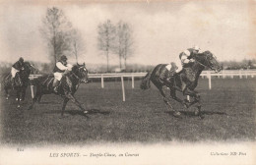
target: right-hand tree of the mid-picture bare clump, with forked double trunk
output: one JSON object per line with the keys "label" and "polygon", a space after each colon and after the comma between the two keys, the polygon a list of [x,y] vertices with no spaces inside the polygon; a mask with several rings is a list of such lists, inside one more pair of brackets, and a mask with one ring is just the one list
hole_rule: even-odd
{"label": "right-hand tree of the mid-picture bare clump, with forked double trunk", "polygon": [[122,58],[124,59],[124,68],[126,69],[126,60],[133,53],[132,30],[128,24],[119,22],[116,30],[115,52],[119,56],[119,65],[122,69]]}

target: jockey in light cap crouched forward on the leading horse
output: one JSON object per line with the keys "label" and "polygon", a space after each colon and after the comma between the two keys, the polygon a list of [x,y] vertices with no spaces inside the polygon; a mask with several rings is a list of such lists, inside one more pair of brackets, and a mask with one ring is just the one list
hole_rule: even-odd
{"label": "jockey in light cap crouched forward on the leading horse", "polygon": [[184,65],[188,64],[188,63],[193,63],[195,62],[194,59],[191,59],[191,57],[194,56],[194,54],[199,53],[200,51],[200,47],[195,45],[192,48],[188,48],[186,50],[184,50],[183,52],[181,52],[179,54],[179,59],[180,61],[178,61],[176,63],[177,65],[177,70],[175,71],[174,75],[178,74],[180,71],[182,71]]}

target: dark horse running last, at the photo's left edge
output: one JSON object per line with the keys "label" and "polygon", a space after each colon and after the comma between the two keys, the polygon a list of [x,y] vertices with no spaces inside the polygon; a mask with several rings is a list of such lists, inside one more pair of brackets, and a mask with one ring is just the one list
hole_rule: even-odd
{"label": "dark horse running last, at the photo's left edge", "polygon": [[4,85],[4,90],[6,94],[6,99],[9,99],[9,89],[16,90],[16,101],[18,101],[18,108],[21,107],[20,102],[25,100],[26,89],[29,85],[29,77],[34,68],[29,62],[24,63],[24,68],[18,72],[14,78],[14,86],[12,83],[11,73],[5,74],[2,79]]}

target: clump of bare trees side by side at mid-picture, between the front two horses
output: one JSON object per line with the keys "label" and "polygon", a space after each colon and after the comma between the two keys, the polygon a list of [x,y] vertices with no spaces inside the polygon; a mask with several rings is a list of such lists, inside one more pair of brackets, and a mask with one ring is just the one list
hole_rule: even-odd
{"label": "clump of bare trees side by side at mid-picture, between the front two horses", "polygon": [[109,53],[116,54],[119,58],[120,70],[122,60],[124,61],[124,70],[126,69],[126,61],[133,53],[133,38],[131,27],[127,23],[119,22],[114,26],[110,20],[103,24],[99,24],[97,35],[97,47],[104,52],[106,56],[106,71],[109,72]]}

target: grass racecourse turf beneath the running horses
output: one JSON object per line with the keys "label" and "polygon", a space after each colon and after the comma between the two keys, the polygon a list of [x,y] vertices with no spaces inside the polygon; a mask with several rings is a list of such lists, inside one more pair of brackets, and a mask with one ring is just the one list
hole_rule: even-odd
{"label": "grass racecourse turf beneath the running horses", "polygon": [[182,119],[174,118],[164,105],[160,92],[141,90],[136,81],[125,82],[126,102],[122,102],[120,82],[82,84],[76,93],[89,119],[69,102],[64,118],[60,118],[62,99],[44,95],[41,103],[27,110],[30,89],[21,109],[16,108],[14,93],[10,100],[1,94],[1,142],[22,144],[159,142],[202,140],[255,140],[255,79],[214,79],[212,90],[208,80],[200,80],[197,90],[202,97],[205,119],[193,115],[194,109],[183,109]]}

